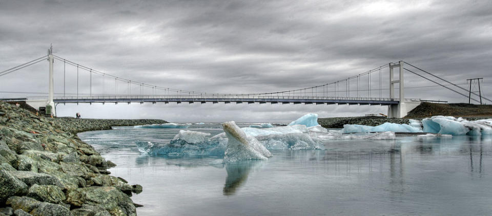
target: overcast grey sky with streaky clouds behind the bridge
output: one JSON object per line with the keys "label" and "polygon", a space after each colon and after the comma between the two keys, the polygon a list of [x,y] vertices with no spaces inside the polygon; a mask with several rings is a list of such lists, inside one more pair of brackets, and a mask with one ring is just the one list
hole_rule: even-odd
{"label": "overcast grey sky with streaky clouds behind the bridge", "polygon": [[[0,71],[45,55],[53,44],[60,57],[138,82],[258,93],[311,87],[405,60],[455,83],[483,77],[483,94],[492,97],[490,11],[491,1],[1,0]],[[66,71],[66,92],[74,93],[76,70],[67,66]],[[47,92],[47,76],[47,62],[2,76],[0,98],[34,95],[5,92]],[[387,70],[388,83],[384,78]],[[405,78],[407,97],[467,102],[442,87],[426,87],[434,83],[415,75]],[[80,80],[80,91],[88,93],[87,73],[81,72]],[[94,81],[93,91],[109,93],[108,83]],[[55,91],[63,93],[60,62],[55,62]],[[57,106],[59,116],[75,112],[88,118],[286,121],[309,112],[321,117],[385,113],[386,107]]]}

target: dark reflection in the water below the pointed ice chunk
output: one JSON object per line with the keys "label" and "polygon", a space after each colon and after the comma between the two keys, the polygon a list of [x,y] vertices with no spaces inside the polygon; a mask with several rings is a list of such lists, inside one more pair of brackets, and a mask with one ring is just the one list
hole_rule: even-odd
{"label": "dark reflection in the water below the pointed ice chunk", "polygon": [[257,167],[262,161],[238,161],[226,163],[227,178],[224,184],[223,195],[231,196],[236,193],[248,179],[250,171]]}

